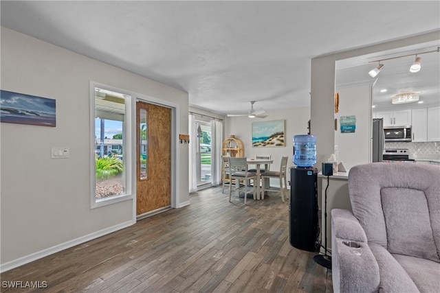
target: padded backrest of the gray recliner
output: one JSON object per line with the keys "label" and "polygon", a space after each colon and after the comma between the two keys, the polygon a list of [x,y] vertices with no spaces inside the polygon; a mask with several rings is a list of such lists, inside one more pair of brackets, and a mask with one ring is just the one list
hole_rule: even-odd
{"label": "padded backrest of the gray recliner", "polygon": [[440,262],[440,167],[370,163],[352,167],[353,215],[369,242],[390,253]]}

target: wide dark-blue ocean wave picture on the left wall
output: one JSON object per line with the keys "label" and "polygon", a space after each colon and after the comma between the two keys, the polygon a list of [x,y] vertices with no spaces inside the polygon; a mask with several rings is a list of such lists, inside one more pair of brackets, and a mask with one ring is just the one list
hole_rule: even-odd
{"label": "wide dark-blue ocean wave picture on the left wall", "polygon": [[0,121],[55,127],[56,100],[1,90]]}

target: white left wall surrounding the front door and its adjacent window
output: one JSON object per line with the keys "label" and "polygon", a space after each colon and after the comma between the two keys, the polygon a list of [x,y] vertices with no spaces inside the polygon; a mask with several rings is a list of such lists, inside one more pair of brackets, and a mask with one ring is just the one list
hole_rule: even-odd
{"label": "white left wall surrounding the front door and its adjacent window", "polygon": [[[188,93],[1,27],[1,89],[56,99],[55,128],[0,124],[2,270],[133,224],[132,200],[90,209],[90,81],[179,105],[177,135],[188,134]],[[70,159],[50,159],[54,146]],[[179,206],[188,145],[176,156]]]}

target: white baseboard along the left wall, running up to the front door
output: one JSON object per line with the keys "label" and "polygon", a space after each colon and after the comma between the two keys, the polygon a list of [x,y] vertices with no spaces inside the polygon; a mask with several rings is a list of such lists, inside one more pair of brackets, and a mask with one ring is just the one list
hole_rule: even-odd
{"label": "white baseboard along the left wall, running up to the front door", "polygon": [[67,248],[71,248],[73,246],[76,246],[78,244],[82,244],[84,242],[96,239],[98,237],[107,235],[109,233],[113,233],[115,231],[118,231],[122,228],[126,228],[128,226],[131,226],[135,224],[132,220],[123,222],[120,224],[117,224],[115,226],[111,226],[109,228],[104,228],[100,231],[96,231],[94,233],[90,233],[88,235],[78,237],[76,239],[72,239],[68,242],[64,242],[62,244],[58,244],[56,246],[52,246],[50,248],[43,249],[41,251],[38,251],[36,253],[31,253],[30,255],[26,255],[25,257],[20,257],[19,259],[14,259],[12,261],[8,261],[7,263],[1,263],[0,264],[0,272],[6,272],[8,270],[12,270],[13,268],[17,268],[19,266],[23,266],[26,263],[30,263],[32,261],[36,261],[37,259],[41,259],[43,257],[47,257],[47,255],[53,255],[54,253],[58,253],[61,250],[65,250]]}

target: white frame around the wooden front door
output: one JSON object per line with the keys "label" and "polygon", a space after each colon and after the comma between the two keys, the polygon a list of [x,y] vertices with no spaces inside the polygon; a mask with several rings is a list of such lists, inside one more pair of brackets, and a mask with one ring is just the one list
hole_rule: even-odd
{"label": "white frame around the wooden front door", "polygon": [[[180,132],[179,124],[177,124],[177,117],[179,117],[180,113],[180,106],[179,104],[175,104],[173,102],[165,101],[164,99],[157,99],[155,97],[151,97],[148,95],[142,95],[139,93],[133,93],[133,100],[131,106],[133,107],[133,127],[136,129],[136,102],[146,102],[149,104],[156,104],[158,106],[164,106],[166,108],[171,109],[171,174],[170,174],[170,196],[171,196],[171,202],[170,207],[177,209],[179,208],[179,202],[180,202],[180,192],[177,190],[176,185],[177,182],[180,180],[179,172],[177,170],[179,169],[179,153],[177,152],[177,133]],[[132,143],[132,152],[133,154],[136,154],[136,136],[133,135],[133,143]],[[133,198],[133,221],[136,222],[136,156],[133,156],[133,178],[131,180],[133,181],[133,190],[134,190],[134,198]],[[154,213],[152,213],[154,214]]]}

